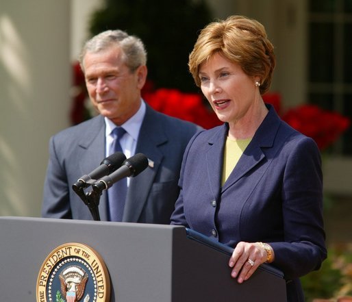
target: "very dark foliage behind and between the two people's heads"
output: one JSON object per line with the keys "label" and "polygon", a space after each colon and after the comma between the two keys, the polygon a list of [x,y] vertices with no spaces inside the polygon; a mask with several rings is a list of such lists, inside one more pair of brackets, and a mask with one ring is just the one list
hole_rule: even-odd
{"label": "very dark foliage behind and between the two people's heads", "polygon": [[92,14],[90,33],[122,29],[142,39],[149,79],[157,88],[196,90],[188,55],[199,30],[211,21],[205,0],[105,0]]}

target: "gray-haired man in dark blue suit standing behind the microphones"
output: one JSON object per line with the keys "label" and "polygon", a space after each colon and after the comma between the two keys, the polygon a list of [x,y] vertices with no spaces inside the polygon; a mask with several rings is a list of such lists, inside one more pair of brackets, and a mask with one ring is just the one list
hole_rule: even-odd
{"label": "gray-haired man in dark blue suit standing behind the microphones", "polygon": [[[42,216],[92,219],[71,186],[112,153],[117,126],[125,131],[118,140],[126,157],[143,153],[149,160],[146,170],[127,179],[118,221],[169,224],[179,194],[182,155],[199,127],[156,112],[141,99],[147,54],[139,38],[120,30],[103,32],[86,42],[79,62],[99,116],[50,139]],[[115,199],[118,196],[103,192],[99,202],[102,221],[116,221],[115,210],[111,210]]]}

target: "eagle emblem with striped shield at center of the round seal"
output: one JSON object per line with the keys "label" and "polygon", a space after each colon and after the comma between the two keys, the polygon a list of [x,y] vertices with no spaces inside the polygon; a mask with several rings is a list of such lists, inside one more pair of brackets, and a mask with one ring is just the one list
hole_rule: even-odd
{"label": "eagle emblem with striped shield at center of the round seal", "polygon": [[67,302],[77,302],[84,295],[88,275],[79,266],[68,266],[59,275],[61,294],[66,297]]}

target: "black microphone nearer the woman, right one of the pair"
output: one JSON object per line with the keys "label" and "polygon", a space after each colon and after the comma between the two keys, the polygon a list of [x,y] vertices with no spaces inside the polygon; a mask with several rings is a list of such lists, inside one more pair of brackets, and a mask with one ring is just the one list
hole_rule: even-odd
{"label": "black microphone nearer the woman, right one of the pair", "polygon": [[137,153],[128,160],[125,160],[120,168],[99,179],[92,188],[96,192],[101,192],[102,190],[108,190],[113,184],[125,177],[135,177],[142,171],[144,171],[148,166],[148,158],[142,154]]}

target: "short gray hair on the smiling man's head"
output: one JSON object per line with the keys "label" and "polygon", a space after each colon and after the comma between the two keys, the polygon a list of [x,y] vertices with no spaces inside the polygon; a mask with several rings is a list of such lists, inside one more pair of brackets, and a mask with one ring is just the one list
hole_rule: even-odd
{"label": "short gray hair on the smiling man's head", "polygon": [[120,29],[116,29],[101,32],[84,44],[78,57],[82,71],[84,71],[83,60],[86,53],[97,53],[113,46],[121,48],[123,61],[130,71],[135,71],[139,66],[147,64],[147,51],[142,40],[136,36],[129,36],[129,34]]}

